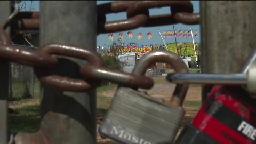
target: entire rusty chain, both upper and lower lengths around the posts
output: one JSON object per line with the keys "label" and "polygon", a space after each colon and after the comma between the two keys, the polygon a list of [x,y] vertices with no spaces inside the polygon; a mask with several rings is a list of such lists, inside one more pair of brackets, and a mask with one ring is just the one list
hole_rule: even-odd
{"label": "entire rusty chain, both upper and lower lengths around the posts", "polygon": [[[170,6],[171,14],[149,15],[149,9],[163,6]],[[118,12],[126,12],[127,19],[106,22],[106,14]],[[190,1],[116,1],[98,5],[97,14],[98,33],[174,23],[190,25],[199,23],[199,14],[193,13],[193,5]],[[11,20],[12,29],[39,29],[39,12],[19,12],[14,17],[12,15],[11,18],[13,18]],[[7,23],[9,22],[10,20],[7,21]],[[2,27],[6,27],[6,23]],[[58,59],[52,54],[89,61],[91,65],[85,64],[80,68],[80,73],[84,79],[51,75],[51,71],[59,65]],[[11,38],[3,28],[0,28],[0,58],[0,67],[6,60],[32,66],[42,83],[65,91],[91,90],[97,87],[101,81],[143,89],[150,89],[154,85],[153,79],[149,77],[106,68],[101,55],[88,47],[49,43],[33,51],[25,47],[11,45]]]}

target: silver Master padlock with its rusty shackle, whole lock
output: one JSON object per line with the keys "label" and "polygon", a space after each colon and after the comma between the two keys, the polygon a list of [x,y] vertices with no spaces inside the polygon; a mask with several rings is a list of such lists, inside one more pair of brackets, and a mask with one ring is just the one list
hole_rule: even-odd
{"label": "silver Master padlock with its rusty shackle, whole lock", "polygon": [[[177,73],[188,73],[183,60],[169,51],[142,56],[132,73],[143,75],[154,62],[169,63]],[[188,84],[177,84],[170,103],[164,103],[133,87],[118,86],[99,133],[122,143],[172,143],[185,110],[181,107]]]}

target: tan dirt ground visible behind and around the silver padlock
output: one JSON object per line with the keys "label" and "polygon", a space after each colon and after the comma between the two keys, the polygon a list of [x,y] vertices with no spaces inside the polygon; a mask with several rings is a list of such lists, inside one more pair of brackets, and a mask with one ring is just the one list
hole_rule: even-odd
{"label": "tan dirt ground visible behind and around the silver padlock", "polygon": [[[159,99],[167,99],[171,98],[171,95],[173,93],[173,90],[175,88],[174,84],[170,83],[155,83],[154,87],[150,90],[142,90],[139,89],[139,91],[146,91],[149,95],[155,98]],[[114,95],[115,91],[109,91],[109,92],[102,92],[101,95],[104,95],[106,97],[110,97],[109,95]],[[185,98],[185,101],[198,101],[201,100],[201,86],[190,86]],[[194,116],[196,115],[198,108],[195,107],[183,107],[186,110],[185,117],[183,118],[183,121],[181,123],[179,132],[177,135],[180,134],[182,131],[184,125],[186,123],[190,123]],[[100,125],[101,121],[103,120],[104,116],[97,118],[97,127]],[[116,144],[118,142],[114,140],[110,140],[108,138],[103,139],[100,137],[99,133],[97,133],[97,143],[99,144]]]}

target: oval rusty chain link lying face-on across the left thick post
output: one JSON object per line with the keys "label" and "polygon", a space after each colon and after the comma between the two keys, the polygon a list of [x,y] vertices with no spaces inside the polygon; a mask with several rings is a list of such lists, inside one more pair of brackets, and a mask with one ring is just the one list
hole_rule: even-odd
{"label": "oval rusty chain link lying face-on across the left thick post", "polygon": [[[93,66],[105,67],[104,60],[96,51],[81,46],[50,43],[40,47],[39,51],[45,54],[60,54],[85,59]],[[92,78],[84,81],[81,79],[50,75],[49,71],[39,67],[34,67],[34,69],[36,76],[42,83],[65,91],[83,92],[94,89],[101,83],[100,80]]]}

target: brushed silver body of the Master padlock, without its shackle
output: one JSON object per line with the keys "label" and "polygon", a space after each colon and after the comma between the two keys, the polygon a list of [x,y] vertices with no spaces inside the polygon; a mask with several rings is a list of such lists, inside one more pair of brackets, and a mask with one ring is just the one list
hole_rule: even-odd
{"label": "brushed silver body of the Master padlock, without its shackle", "polygon": [[128,87],[119,87],[99,133],[122,143],[172,143],[185,111]]}

